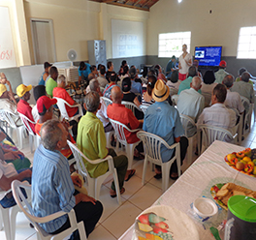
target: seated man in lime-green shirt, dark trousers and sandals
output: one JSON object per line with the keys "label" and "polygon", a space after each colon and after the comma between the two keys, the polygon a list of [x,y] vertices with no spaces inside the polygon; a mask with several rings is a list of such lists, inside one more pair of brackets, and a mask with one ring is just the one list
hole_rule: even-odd
{"label": "seated man in lime-green shirt, dark trousers and sandals", "polygon": [[[116,156],[113,149],[106,147],[106,136],[104,133],[103,124],[96,117],[96,112],[100,109],[100,96],[96,92],[89,92],[85,96],[85,104],[87,112],[81,117],[79,123],[79,131],[77,143],[80,151],[90,160],[104,159],[108,155],[112,156],[113,165],[116,168],[120,194],[123,194],[124,180],[128,181],[134,174],[135,169],[127,170],[128,159],[124,155]],[[87,168],[91,177],[98,177],[107,172],[108,162],[103,162],[98,165],[92,165],[84,160],[84,165]],[[112,182],[111,196],[115,197],[115,187]]]}

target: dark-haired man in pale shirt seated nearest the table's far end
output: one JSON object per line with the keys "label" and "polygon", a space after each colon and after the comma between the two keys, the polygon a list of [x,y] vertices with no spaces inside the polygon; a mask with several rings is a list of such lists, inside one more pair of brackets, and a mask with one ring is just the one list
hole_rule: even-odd
{"label": "dark-haired man in pale shirt seated nearest the table's far end", "polygon": [[[220,127],[232,133],[233,128],[236,126],[236,113],[224,105],[226,96],[226,86],[221,83],[217,84],[212,91],[211,106],[203,110],[198,118],[197,124]],[[226,140],[230,141],[231,139],[227,138]]]}

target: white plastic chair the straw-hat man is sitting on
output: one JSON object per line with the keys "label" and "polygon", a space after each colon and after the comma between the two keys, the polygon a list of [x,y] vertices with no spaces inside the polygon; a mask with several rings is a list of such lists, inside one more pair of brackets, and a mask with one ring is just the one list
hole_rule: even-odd
{"label": "white plastic chair the straw-hat man is sitting on", "polygon": [[[153,135],[140,131],[137,133],[137,136],[144,142],[144,172],[143,172],[143,185],[144,185],[144,176],[146,171],[147,163],[150,162],[154,165],[161,165],[162,168],[162,191],[165,192],[168,189],[169,177],[170,177],[170,168],[171,165],[176,161],[177,165],[177,174],[180,176],[180,148],[179,142],[170,146],[162,137],[158,135]],[[163,163],[161,157],[161,146],[164,145],[168,149],[176,149],[175,156],[168,162]],[[171,156],[170,156],[171,158]]]}

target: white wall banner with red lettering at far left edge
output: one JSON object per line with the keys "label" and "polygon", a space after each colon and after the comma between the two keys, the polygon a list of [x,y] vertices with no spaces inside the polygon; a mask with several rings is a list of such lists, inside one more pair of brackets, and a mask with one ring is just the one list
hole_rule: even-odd
{"label": "white wall banner with red lettering at far left edge", "polygon": [[16,56],[8,7],[0,7],[0,69],[16,67]]}

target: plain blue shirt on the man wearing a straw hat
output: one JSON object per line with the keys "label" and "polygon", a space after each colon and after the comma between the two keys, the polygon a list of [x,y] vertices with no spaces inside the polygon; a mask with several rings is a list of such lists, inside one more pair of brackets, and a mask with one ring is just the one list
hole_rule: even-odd
{"label": "plain blue shirt on the man wearing a straw hat", "polygon": [[[167,101],[148,106],[144,115],[144,131],[162,137],[170,146],[175,143],[175,137],[184,135],[178,111]],[[161,145],[163,163],[172,158],[173,152],[174,149]]]}

